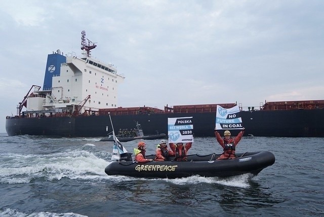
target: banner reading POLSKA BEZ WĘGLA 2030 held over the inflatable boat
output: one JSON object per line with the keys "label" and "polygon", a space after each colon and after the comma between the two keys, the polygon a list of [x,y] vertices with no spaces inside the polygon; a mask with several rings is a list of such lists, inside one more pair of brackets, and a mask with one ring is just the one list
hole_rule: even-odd
{"label": "banner reading POLSKA BEZ W\u0118GLA 2030 held over the inflatable boat", "polygon": [[192,117],[168,118],[169,143],[193,142]]}

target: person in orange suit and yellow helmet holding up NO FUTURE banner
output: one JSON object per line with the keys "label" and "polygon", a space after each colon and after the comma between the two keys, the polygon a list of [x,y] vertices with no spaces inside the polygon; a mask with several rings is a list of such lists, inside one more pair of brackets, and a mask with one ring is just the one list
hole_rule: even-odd
{"label": "person in orange suit and yellow helmet holding up NO FUTURE banner", "polygon": [[223,154],[219,156],[219,158],[217,158],[217,160],[236,158],[235,147],[237,146],[239,140],[241,140],[244,134],[244,130],[245,128],[243,127],[243,129],[237,134],[235,138],[231,137],[231,132],[229,130],[225,130],[224,138],[222,138],[217,129],[215,128],[216,140],[221,145],[224,151]]}

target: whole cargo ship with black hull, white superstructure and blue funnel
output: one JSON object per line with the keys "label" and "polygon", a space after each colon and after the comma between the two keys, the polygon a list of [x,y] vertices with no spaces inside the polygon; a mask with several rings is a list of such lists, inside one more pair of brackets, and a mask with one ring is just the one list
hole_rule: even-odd
{"label": "whole cargo ship with black hull, white superstructure and blue funnel", "polygon": [[[97,45],[82,31],[82,56],[48,55],[43,88],[32,85],[17,105],[17,115],[6,117],[6,131],[14,135],[62,137],[107,136],[113,127],[141,124],[145,135],[168,133],[168,118],[193,117],[194,136],[214,136],[216,106],[234,103],[164,106],[118,106],[118,85],[125,76],[111,63],[91,57]],[[243,107],[238,103],[245,135],[324,137],[324,100],[272,101]],[[236,132],[233,131],[234,135]]]}

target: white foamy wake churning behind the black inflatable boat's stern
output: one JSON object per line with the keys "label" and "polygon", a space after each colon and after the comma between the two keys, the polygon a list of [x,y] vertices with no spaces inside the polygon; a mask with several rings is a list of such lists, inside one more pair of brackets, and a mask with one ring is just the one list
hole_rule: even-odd
{"label": "white foamy wake churning behind the black inflatable boat's stern", "polygon": [[[96,154],[100,155],[100,153]],[[102,178],[106,177],[103,168],[108,163],[91,151],[85,150],[67,150],[64,153],[50,155],[10,153],[0,156],[3,161],[3,167],[0,168],[0,183],[3,184],[29,183],[38,178],[46,180],[60,180],[63,177]]]}

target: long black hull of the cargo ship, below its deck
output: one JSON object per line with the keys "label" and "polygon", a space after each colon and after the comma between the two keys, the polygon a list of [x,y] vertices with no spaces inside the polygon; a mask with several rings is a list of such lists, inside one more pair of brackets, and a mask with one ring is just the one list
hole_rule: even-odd
{"label": "long black hull of the cargo ship, below its deck", "polygon": [[[245,135],[277,137],[324,137],[324,109],[287,111],[242,111]],[[168,118],[193,117],[194,136],[214,136],[215,113],[166,113],[112,115],[115,130],[141,124],[145,134],[168,134]],[[7,118],[6,130],[14,135],[63,137],[107,136],[112,131],[109,116]],[[232,132],[235,135],[236,132]]]}

